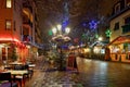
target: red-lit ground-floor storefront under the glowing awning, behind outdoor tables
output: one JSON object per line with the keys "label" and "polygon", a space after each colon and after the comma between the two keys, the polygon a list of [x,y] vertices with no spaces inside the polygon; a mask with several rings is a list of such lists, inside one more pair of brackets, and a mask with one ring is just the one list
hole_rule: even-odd
{"label": "red-lit ground-floor storefront under the glowing awning, behind outdoor tables", "polygon": [[1,63],[14,60],[23,61],[27,57],[26,52],[28,52],[26,46],[18,40],[0,40]]}

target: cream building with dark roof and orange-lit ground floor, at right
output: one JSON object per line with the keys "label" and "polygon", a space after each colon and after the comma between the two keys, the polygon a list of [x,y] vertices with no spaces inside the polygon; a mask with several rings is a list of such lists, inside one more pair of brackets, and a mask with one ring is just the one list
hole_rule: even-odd
{"label": "cream building with dark roof and orange-lit ground floor, at right", "polygon": [[[130,0],[119,0],[110,17],[110,53],[116,61],[130,59]],[[120,54],[120,55],[119,55]]]}

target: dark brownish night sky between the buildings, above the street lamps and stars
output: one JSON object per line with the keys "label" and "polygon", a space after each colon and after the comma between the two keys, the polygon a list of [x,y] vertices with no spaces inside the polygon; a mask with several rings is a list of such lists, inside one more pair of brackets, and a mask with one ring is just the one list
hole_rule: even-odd
{"label": "dark brownish night sky between the buildings, above the street lamps and stars", "polygon": [[[65,16],[68,18],[67,26],[72,28],[73,38],[77,35],[80,37],[80,32],[83,32],[84,27],[83,23],[88,26],[90,21],[100,22],[100,30],[104,29],[108,26],[107,18],[112,14],[115,1],[117,0],[36,0],[43,41],[48,42],[51,38],[48,32],[56,24],[61,24]],[[65,3],[67,3],[67,9]],[[101,32],[101,34],[104,33]]]}

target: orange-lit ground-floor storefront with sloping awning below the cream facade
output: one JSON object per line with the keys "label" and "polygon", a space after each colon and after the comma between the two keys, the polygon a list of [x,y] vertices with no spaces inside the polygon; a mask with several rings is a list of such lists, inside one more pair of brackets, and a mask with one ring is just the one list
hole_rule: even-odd
{"label": "orange-lit ground-floor storefront with sloping awning below the cream facade", "polygon": [[112,61],[130,63],[130,35],[119,36],[107,46]]}

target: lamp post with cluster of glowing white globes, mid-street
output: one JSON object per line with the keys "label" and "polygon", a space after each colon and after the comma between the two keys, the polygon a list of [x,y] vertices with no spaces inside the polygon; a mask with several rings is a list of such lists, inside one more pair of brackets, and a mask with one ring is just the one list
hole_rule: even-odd
{"label": "lamp post with cluster of glowing white globes, mid-street", "polygon": [[66,27],[62,28],[62,25],[57,25],[56,27],[52,28],[52,33],[53,33],[53,37],[52,37],[52,41],[57,44],[57,48],[60,50],[60,66],[57,67],[60,71],[64,70],[63,63],[64,63],[64,59],[63,59],[63,51],[62,51],[62,45],[64,42],[67,42],[70,40],[70,38],[67,36],[67,34],[69,34],[70,28]]}

